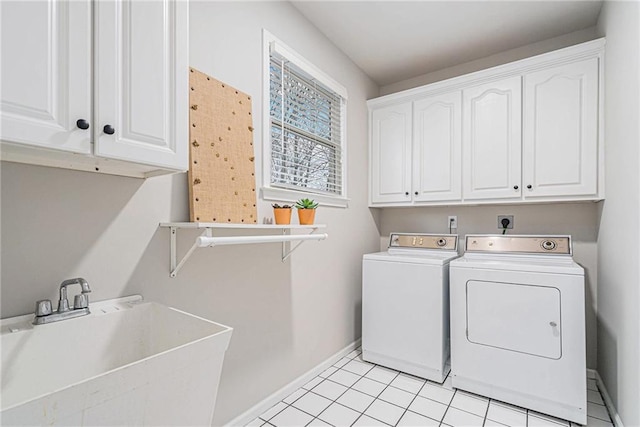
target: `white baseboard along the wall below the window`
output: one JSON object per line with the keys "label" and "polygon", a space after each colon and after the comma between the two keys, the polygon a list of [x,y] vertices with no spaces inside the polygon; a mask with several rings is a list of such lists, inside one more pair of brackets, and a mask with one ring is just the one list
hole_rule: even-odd
{"label": "white baseboard along the wall below the window", "polygon": [[348,346],[346,346],[345,348],[343,348],[333,356],[330,356],[324,362],[321,362],[319,365],[308,370],[307,372],[300,375],[295,380],[291,381],[286,386],[282,387],[280,390],[267,396],[265,399],[253,405],[247,411],[243,412],[242,414],[238,415],[237,417],[229,421],[227,424],[225,424],[225,427],[244,426],[247,423],[253,421],[257,417],[259,417],[264,411],[271,408],[273,405],[280,402],[285,397],[289,396],[291,393],[293,393],[294,391],[296,391],[297,389],[299,389],[300,387],[302,387],[303,385],[311,381],[313,378],[317,377],[329,366],[333,365],[338,360],[342,359],[344,356],[346,356],[347,354],[351,353],[353,350],[358,348],[360,346],[360,342],[361,340],[359,339],[352,342],[351,344],[349,344]]}

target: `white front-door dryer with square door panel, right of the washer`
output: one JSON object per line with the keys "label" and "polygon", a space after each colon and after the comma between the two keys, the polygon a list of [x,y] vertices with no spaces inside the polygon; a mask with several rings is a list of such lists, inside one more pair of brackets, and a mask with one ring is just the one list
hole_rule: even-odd
{"label": "white front-door dryer with square door panel, right of the washer", "polygon": [[584,270],[570,236],[466,236],[450,265],[456,388],[586,424]]}

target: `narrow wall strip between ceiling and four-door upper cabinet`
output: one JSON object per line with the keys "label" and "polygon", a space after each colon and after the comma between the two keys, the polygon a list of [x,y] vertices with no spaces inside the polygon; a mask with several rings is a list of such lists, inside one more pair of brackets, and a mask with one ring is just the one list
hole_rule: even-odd
{"label": "narrow wall strip between ceiling and four-door upper cabinet", "polygon": [[382,86],[380,95],[388,95],[390,93],[400,92],[402,90],[438,82],[452,77],[461,76],[475,71],[485,70],[487,68],[496,67],[498,65],[507,64],[542,53],[550,52],[563,47],[573,46],[578,43],[586,42],[597,38],[596,28],[587,28],[573,33],[564,34],[552,39],[543,40],[538,43],[522,46],[516,49],[500,52],[486,58],[477,59],[471,62],[456,65],[454,67],[445,68],[443,70],[434,71],[432,73],[423,74],[411,79],[402,80],[397,83]]}

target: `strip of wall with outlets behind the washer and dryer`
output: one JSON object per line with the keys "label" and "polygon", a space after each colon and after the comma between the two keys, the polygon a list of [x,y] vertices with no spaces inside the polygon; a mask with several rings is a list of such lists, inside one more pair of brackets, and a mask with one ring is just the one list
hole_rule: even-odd
{"label": "strip of wall with outlets behind the washer and dryer", "polygon": [[391,232],[448,233],[447,218],[458,216],[457,233],[464,248],[466,234],[496,234],[498,215],[514,215],[509,234],[570,234],[574,260],[585,269],[585,314],[587,367],[596,368],[597,224],[598,204],[566,203],[526,206],[465,206],[432,208],[385,208],[380,217],[381,246],[386,248]]}

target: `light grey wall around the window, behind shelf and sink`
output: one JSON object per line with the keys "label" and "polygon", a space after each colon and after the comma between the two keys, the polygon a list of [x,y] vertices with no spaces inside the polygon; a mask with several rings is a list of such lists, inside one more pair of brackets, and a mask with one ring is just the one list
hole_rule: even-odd
{"label": "light grey wall around the window, behind shelf and sink", "polygon": [[[362,254],[379,246],[365,160],[365,100],[378,88],[287,2],[190,7],[191,65],[252,96],[256,165],[262,28],[348,89],[349,208],[321,207],[329,239],[306,242],[285,263],[279,244],[203,249],[170,279],[169,234],[158,223],[188,221],[186,174],[141,181],[3,162],[1,310],[32,312],[38,299],[57,300],[63,279],[82,276],[93,300],[141,293],[232,326],[218,425],[360,337]],[[259,202],[258,214],[271,216],[270,204]],[[180,236],[180,250],[194,237]]]}

